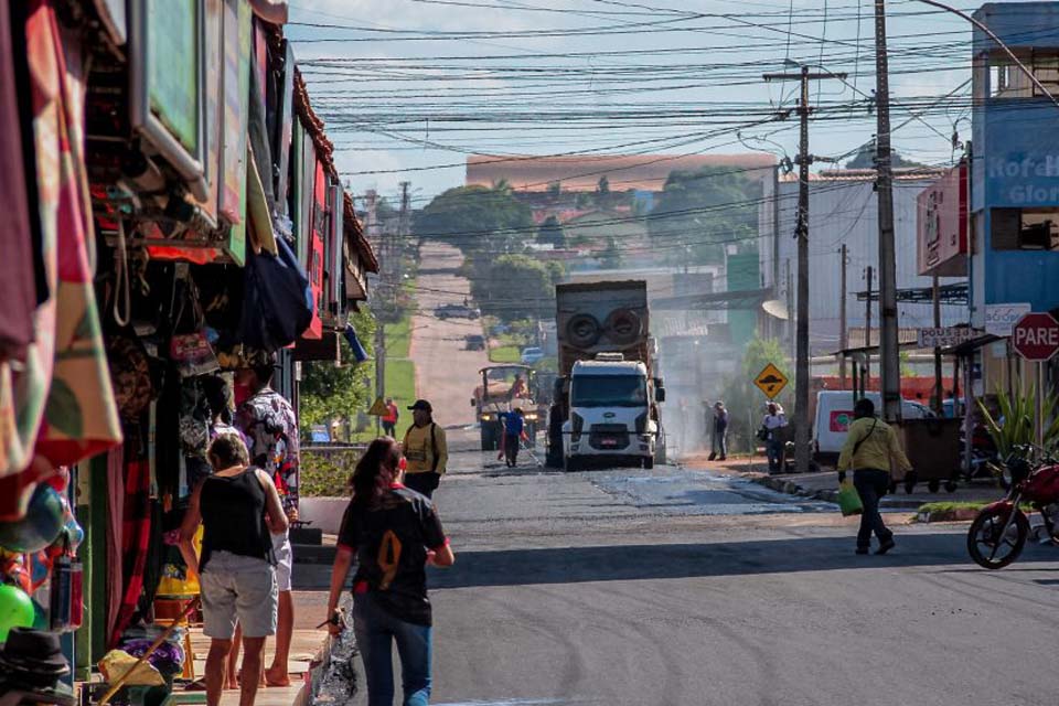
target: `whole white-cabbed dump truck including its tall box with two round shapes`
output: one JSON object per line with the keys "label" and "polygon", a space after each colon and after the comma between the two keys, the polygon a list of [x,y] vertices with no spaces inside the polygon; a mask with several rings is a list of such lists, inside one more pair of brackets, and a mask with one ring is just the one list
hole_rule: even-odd
{"label": "whole white-cabbed dump truck including its tall box with two round shapes", "polygon": [[558,377],[548,411],[549,466],[654,467],[665,399],[653,376],[642,280],[558,285]]}

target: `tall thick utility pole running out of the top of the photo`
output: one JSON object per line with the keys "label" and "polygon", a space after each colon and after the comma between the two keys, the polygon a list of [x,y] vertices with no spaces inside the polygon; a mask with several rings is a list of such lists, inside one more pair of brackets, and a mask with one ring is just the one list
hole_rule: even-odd
{"label": "tall thick utility pole running out of the top of the photo", "polygon": [[897,254],[894,246],[894,164],[890,154],[890,79],[886,55],[886,1],[875,0],[876,161],[879,194],[879,359],[882,413],[901,420],[901,361],[897,333]]}

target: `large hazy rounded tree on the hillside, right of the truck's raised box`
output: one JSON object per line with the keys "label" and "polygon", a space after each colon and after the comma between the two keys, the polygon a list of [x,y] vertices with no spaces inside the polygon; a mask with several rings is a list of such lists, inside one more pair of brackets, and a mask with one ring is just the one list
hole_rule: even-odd
{"label": "large hazy rounded tree on the hillside, right of the truck's raised box", "polygon": [[730,167],[674,171],[648,215],[648,233],[673,264],[715,264],[724,245],[753,248],[761,182]]}

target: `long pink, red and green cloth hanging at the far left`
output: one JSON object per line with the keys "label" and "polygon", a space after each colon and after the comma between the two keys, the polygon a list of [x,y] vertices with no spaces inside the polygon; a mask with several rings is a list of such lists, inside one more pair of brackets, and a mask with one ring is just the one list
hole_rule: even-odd
{"label": "long pink, red and green cloth hanging at the far left", "polygon": [[[79,44],[61,38],[50,0],[33,0],[25,23],[38,201],[46,289],[34,312],[23,371],[0,363],[0,475],[40,454],[69,464],[121,440],[93,290],[83,151]],[[65,53],[64,53],[65,52]],[[18,498],[0,501],[0,515]]]}

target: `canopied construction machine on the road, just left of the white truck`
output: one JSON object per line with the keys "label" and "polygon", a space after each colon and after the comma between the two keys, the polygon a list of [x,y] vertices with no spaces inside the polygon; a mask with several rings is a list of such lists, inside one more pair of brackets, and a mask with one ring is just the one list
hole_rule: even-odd
{"label": "canopied construction machine on the road, just left of the white truck", "polygon": [[536,439],[537,426],[543,418],[534,399],[534,371],[528,365],[490,365],[479,371],[482,384],[474,388],[471,406],[478,415],[481,428],[482,451],[500,448],[504,432],[501,415],[522,409],[526,436],[531,448]]}

